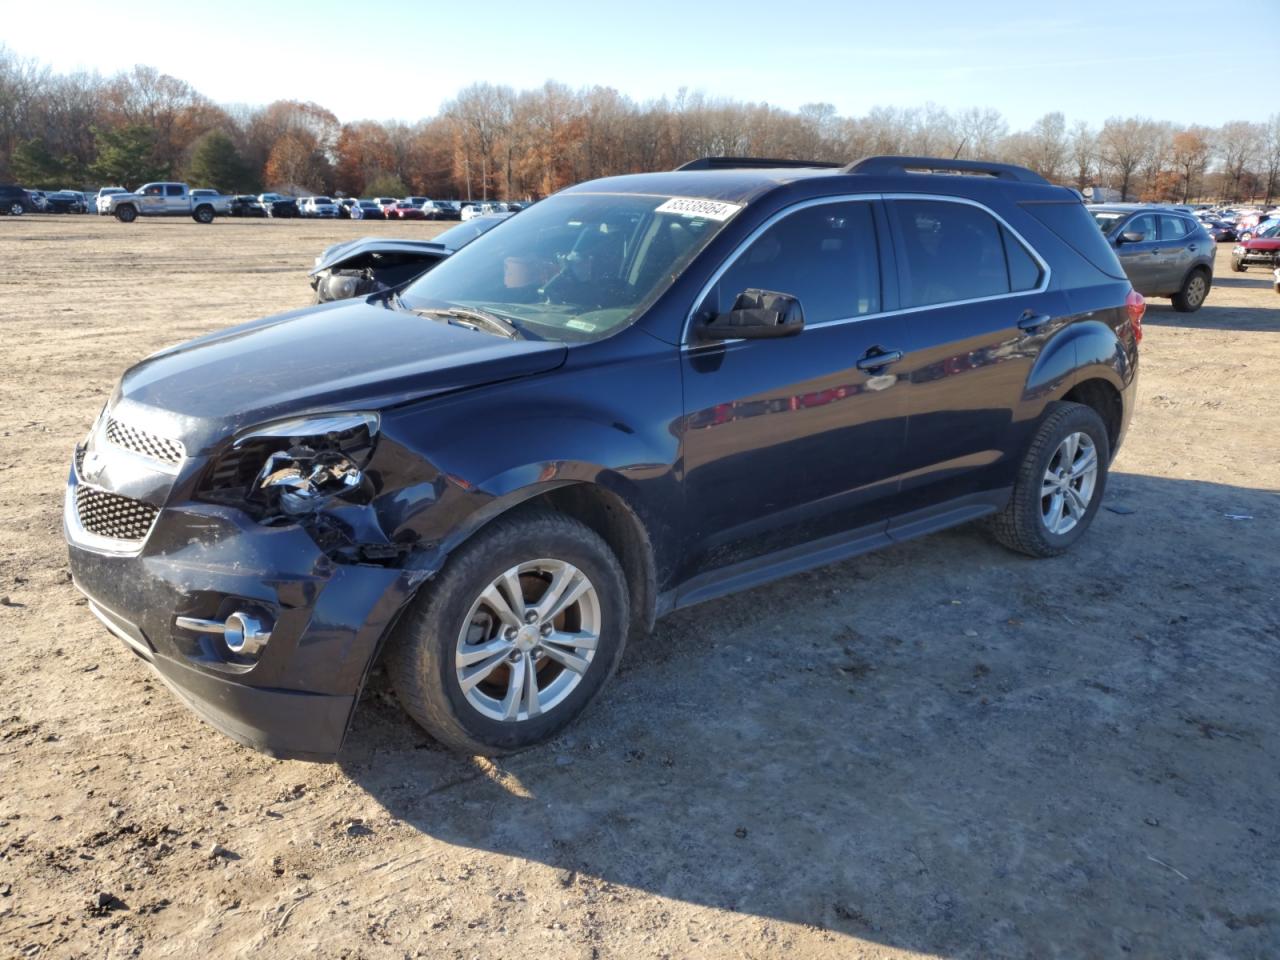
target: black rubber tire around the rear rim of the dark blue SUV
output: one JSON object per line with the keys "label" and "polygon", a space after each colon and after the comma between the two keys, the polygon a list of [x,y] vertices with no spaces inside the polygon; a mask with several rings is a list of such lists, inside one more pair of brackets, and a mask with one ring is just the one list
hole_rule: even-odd
{"label": "black rubber tire around the rear rim of the dark blue SUV", "polygon": [[[1080,516],[1073,517],[1070,529],[1061,532],[1051,529],[1051,515],[1055,504],[1052,495],[1043,495],[1052,483],[1050,471],[1061,466],[1059,457],[1064,443],[1070,436],[1084,435],[1093,447],[1096,470],[1093,483],[1088,489],[1088,499]],[[1084,448],[1079,443],[1076,449]],[[1080,453],[1078,452],[1079,457]],[[1111,461],[1111,443],[1102,417],[1092,407],[1083,403],[1052,403],[1044,420],[1032,438],[1030,445],[1018,467],[1014,492],[1005,508],[989,521],[989,529],[996,540],[1016,553],[1028,557],[1057,557],[1065,553],[1089,529],[1094,515],[1106,494],[1107,468]],[[1082,490],[1078,489],[1078,493]],[[1068,497],[1060,494],[1064,500]],[[1048,503],[1046,503],[1048,500]]]}

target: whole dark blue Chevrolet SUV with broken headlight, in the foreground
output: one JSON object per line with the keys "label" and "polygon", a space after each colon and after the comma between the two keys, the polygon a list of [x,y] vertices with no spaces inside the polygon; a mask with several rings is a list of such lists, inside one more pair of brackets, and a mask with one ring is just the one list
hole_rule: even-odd
{"label": "whole dark blue Chevrolet SUV with broken headlight, in the foreground", "polygon": [[1016,166],[582,183],[128,370],[74,452],[70,566],[241,742],[332,756],[384,650],[438,740],[518,750],[676,608],[980,517],[1069,548],[1143,308],[1078,195]]}

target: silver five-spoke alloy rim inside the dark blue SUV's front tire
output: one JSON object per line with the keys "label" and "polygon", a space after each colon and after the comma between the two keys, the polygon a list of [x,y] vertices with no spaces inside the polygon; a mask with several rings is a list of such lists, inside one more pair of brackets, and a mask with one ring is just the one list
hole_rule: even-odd
{"label": "silver five-spoke alloy rim inside the dark blue SUV's front tire", "polygon": [[454,652],[458,686],[490,719],[532,719],[573,692],[599,640],[600,599],[586,573],[558,559],[520,563],[471,604]]}

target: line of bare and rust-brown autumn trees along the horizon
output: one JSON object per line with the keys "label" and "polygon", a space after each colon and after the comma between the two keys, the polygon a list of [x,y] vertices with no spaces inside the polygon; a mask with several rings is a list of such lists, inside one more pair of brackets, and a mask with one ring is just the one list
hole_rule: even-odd
{"label": "line of bare and rust-brown autumn trees along the horizon", "polygon": [[1179,125],[1047,113],[1014,131],[998,110],[936,104],[841,116],[681,90],[637,102],[611,87],[474,83],[416,123],[340,123],[314,102],[220,105],[138,65],[55,73],[0,45],[0,180],[31,188],[183,178],[248,193],[536,198],[567,184],[699,156],[849,161],[909,154],[1023,164],[1125,198],[1239,201],[1280,195],[1280,113],[1266,123]]}

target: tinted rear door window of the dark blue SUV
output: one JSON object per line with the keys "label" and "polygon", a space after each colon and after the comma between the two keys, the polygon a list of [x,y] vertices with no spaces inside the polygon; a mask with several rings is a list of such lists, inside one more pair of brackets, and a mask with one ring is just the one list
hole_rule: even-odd
{"label": "tinted rear door window of the dark blue SUV", "polygon": [[902,306],[997,297],[1039,284],[1039,265],[1000,223],[969,204],[895,200]]}

